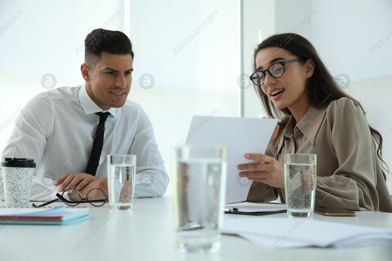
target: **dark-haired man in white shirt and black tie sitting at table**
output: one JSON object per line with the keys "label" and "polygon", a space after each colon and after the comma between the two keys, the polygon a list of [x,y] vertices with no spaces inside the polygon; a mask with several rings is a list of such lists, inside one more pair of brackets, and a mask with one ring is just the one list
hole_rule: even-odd
{"label": "dark-haired man in white shirt and black tie sitting at table", "polygon": [[[2,160],[34,159],[30,200],[50,201],[75,186],[83,197],[92,188],[108,194],[106,155],[110,154],[136,155],[135,198],[165,193],[169,177],[152,124],[139,104],[127,100],[133,58],[125,34],[94,29],[85,39],[85,63],[80,67],[85,83],[42,92],[24,106]],[[4,200],[2,169],[0,200]]]}

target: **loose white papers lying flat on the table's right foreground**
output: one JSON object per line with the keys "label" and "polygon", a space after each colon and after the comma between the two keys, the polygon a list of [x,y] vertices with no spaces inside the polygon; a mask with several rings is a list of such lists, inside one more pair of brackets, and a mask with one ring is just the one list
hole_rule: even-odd
{"label": "loose white papers lying flat on the table's right foreground", "polygon": [[[224,234],[235,234],[272,250],[293,247],[357,247],[385,235],[385,229],[318,221],[312,218],[232,218]],[[391,239],[390,237],[388,239]]]}

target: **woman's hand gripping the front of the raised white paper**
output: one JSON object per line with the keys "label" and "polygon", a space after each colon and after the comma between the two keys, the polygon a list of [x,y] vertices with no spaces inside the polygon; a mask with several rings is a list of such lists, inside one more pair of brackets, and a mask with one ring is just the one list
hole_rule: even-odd
{"label": "woman's hand gripping the front of the raised white paper", "polygon": [[285,187],[283,175],[283,165],[274,157],[261,154],[246,154],[248,160],[259,160],[261,163],[249,163],[238,165],[240,177],[247,177],[249,180],[256,180],[268,184],[272,187]]}

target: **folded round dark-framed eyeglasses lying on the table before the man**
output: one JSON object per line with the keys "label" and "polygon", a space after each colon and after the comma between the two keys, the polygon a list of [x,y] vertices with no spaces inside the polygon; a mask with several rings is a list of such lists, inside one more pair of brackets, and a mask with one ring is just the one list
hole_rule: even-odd
{"label": "folded round dark-framed eyeglasses lying on the table before the man", "polygon": [[[64,194],[67,193],[67,194]],[[63,193],[60,195],[59,193],[56,194],[56,196],[58,198],[56,198],[55,200],[46,202],[42,205],[38,205],[36,206],[33,203],[33,207],[44,207],[46,205],[49,205],[50,203],[53,202],[57,202],[59,200],[61,200],[62,202],[64,202],[65,204],[69,205],[69,206],[76,206],[79,205],[80,203],[90,203],[91,205],[95,206],[95,207],[100,207],[103,206],[108,198],[105,194],[105,192],[103,192],[101,189],[91,189],[87,195],[86,198],[82,197],[82,193],[80,193],[80,191],[78,191],[77,189],[65,189],[65,191],[63,191]],[[68,199],[65,198],[65,196]]]}

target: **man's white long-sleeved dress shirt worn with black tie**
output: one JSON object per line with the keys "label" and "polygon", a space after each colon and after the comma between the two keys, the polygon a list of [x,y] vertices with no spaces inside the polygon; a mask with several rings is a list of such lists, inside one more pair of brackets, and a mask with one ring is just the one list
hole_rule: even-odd
{"label": "man's white long-sleeved dress shirt worn with black tie", "polygon": [[[107,155],[136,155],[135,198],[162,196],[169,184],[152,124],[140,104],[129,99],[121,108],[102,109],[87,94],[85,84],[59,87],[35,95],[15,122],[2,153],[5,158],[33,158],[36,162],[30,200],[50,201],[65,173],[84,173],[93,148],[99,116],[105,122],[97,178],[107,176]],[[4,200],[0,167],[0,200]]]}

